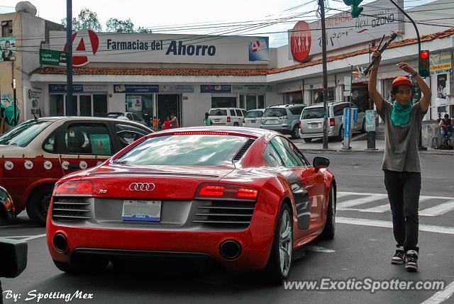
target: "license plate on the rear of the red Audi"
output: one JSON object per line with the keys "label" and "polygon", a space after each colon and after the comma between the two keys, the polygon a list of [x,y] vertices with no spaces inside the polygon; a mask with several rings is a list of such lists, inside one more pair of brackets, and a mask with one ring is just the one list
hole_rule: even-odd
{"label": "license plate on the rear of the red Audi", "polygon": [[159,222],[161,220],[161,201],[123,201],[121,220],[143,220]]}

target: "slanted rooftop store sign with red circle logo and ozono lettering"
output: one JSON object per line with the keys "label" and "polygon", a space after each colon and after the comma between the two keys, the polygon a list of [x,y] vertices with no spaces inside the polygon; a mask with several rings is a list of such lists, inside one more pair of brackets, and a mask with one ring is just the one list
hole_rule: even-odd
{"label": "slanted rooftop store sign with red circle logo and ozono lettering", "polygon": [[[404,7],[404,0],[395,2]],[[327,51],[380,39],[392,31],[404,31],[404,14],[389,0],[377,0],[362,7],[364,10],[358,18],[348,11],[326,18]],[[321,53],[321,21],[299,21],[288,36],[289,59],[305,62],[311,55]]]}

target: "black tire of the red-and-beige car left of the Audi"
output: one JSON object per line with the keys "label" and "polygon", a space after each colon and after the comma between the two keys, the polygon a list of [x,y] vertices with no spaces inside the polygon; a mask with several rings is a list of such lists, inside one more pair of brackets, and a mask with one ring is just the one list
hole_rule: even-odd
{"label": "black tire of the red-and-beige car left of the Audi", "polygon": [[28,218],[42,227],[45,227],[53,188],[53,185],[39,186],[31,192],[30,198],[28,198],[26,206]]}

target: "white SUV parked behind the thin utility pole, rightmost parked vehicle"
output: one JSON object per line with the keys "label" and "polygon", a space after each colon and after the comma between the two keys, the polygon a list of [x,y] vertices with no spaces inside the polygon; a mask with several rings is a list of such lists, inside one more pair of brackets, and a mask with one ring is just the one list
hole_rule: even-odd
{"label": "white SUV parked behind the thin utility pole, rightmost parked vehicle", "polygon": [[[343,109],[348,108],[348,102],[334,102],[328,104],[328,136],[336,136],[343,140]],[[358,108],[352,103],[352,108]],[[323,137],[323,103],[317,103],[304,108],[301,113],[301,137],[305,142],[313,138]],[[365,113],[358,109],[358,118],[352,122],[352,133],[365,131]]]}

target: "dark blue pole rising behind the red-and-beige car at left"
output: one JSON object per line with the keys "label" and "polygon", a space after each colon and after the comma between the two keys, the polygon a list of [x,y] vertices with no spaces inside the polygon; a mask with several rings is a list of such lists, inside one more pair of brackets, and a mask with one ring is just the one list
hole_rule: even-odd
{"label": "dark blue pole rising behind the red-and-beige car at left", "polygon": [[66,115],[72,116],[72,0],[66,0]]}

